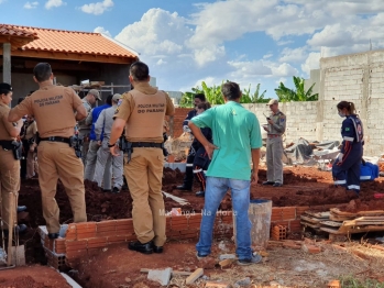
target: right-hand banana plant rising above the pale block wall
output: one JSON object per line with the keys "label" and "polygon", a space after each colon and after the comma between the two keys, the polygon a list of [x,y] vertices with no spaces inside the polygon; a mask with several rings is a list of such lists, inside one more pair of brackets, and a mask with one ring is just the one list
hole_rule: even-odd
{"label": "right-hand banana plant rising above the pale block wall", "polygon": [[317,101],[319,100],[319,95],[315,93],[312,95],[314,84],[309,87],[309,89],[306,91],[305,87],[305,79],[300,77],[294,76],[294,85],[295,90],[289,89],[284,86],[283,82],[279,82],[278,88],[275,89],[275,92],[278,97],[278,101],[281,102],[289,102],[289,101]]}

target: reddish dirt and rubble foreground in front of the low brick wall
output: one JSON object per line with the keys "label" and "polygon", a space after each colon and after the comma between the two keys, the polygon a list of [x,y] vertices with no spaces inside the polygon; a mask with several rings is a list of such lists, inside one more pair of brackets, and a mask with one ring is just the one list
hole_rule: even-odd
{"label": "reddish dirt and rubble foreground in front of the low brick wall", "polygon": [[[341,247],[320,242],[322,252],[319,254],[271,246],[263,263],[251,266],[238,266],[234,263],[226,269],[220,268],[218,259],[221,254],[234,254],[232,241],[217,241],[211,257],[204,261],[197,259],[195,244],[196,242],[172,242],[165,246],[164,254],[153,255],[129,251],[123,244],[114,245],[81,265],[80,272],[73,276],[84,287],[154,288],[160,285],[147,280],[147,275],[140,273],[140,268],[171,267],[173,270],[194,272],[201,267],[205,269],[204,278],[188,287],[202,288],[206,281],[222,281],[235,287],[238,281],[246,277],[250,281],[244,287],[326,287],[329,280],[342,275],[378,280],[384,275],[384,252],[352,243]],[[185,276],[175,276],[168,287],[187,287],[185,279]]]}

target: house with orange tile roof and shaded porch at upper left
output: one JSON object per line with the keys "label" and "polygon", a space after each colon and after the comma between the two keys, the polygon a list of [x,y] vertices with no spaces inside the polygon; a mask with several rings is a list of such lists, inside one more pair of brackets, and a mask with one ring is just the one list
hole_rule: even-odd
{"label": "house with orange tile roof and shaded porch at upper left", "polygon": [[135,51],[100,33],[0,24],[0,77],[12,84],[14,102],[37,89],[32,78],[37,63],[50,63],[58,84],[89,79],[113,84],[113,92],[124,92],[129,67],[136,60]]}

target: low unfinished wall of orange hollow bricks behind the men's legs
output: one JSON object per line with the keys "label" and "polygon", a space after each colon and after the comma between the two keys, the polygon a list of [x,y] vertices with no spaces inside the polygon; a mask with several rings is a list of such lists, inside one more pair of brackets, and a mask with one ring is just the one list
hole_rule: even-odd
{"label": "low unfinished wall of orange hollow bricks behind the men's legs", "polygon": [[[328,210],[332,206],[311,207],[315,210]],[[279,232],[300,232],[300,215],[309,207],[272,208],[271,234],[274,228]],[[166,219],[168,240],[196,240],[199,235],[201,214],[172,215]],[[101,222],[73,223],[67,225],[65,239],[50,240],[45,226],[40,228],[42,244],[46,251],[48,264],[56,269],[77,267],[83,262],[100,253],[110,244],[125,243],[135,240],[132,219],[108,220]],[[233,235],[231,211],[218,212],[213,235],[216,239]],[[279,239],[282,240],[282,239]]]}

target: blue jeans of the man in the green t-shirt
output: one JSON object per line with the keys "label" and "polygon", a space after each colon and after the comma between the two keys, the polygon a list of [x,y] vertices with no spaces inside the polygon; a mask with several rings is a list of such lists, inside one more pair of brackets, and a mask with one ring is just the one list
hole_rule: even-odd
{"label": "blue jeans of the man in the green t-shirt", "polygon": [[200,224],[200,239],[196,250],[200,255],[210,254],[212,245],[212,230],[216,212],[228,188],[231,189],[233,213],[237,225],[237,250],[239,259],[252,257],[251,221],[248,217],[250,206],[250,181],[229,178],[207,177],[205,206]]}

